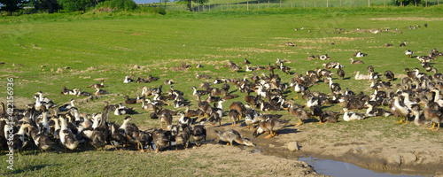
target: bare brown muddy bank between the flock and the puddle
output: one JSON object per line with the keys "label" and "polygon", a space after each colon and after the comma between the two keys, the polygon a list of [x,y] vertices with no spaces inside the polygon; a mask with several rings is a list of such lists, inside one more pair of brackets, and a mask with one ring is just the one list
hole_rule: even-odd
{"label": "bare brown muddy bank between the flock and the puddle", "polygon": [[[214,134],[214,129],[230,128],[236,129],[241,135],[246,135],[249,138],[253,134],[253,130],[246,130],[243,127],[208,127],[208,139],[214,139],[215,143],[222,143]],[[280,135],[269,139],[264,138],[268,133],[252,138],[253,143],[256,144],[254,149],[260,150],[263,155],[279,158],[298,160],[299,157],[313,157],[337,160],[358,165],[377,173],[443,176],[443,146],[441,146],[441,142],[415,140],[416,142],[399,143],[396,140],[384,140],[367,143],[369,140],[365,138],[360,141],[344,140],[337,143],[309,139],[311,134],[322,134],[323,129],[307,128],[300,132],[295,130],[295,133],[294,129],[297,128],[288,126],[279,132]],[[297,142],[299,150],[289,150],[289,142]],[[416,147],[405,144],[416,144]],[[237,146],[242,145],[237,144]]]}

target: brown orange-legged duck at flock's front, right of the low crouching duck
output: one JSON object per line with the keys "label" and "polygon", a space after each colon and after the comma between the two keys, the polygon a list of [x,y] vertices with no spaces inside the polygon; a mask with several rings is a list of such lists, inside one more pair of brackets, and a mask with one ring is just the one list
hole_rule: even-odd
{"label": "brown orange-legged duck at flock's front, right of the low crouching duck", "polygon": [[278,130],[283,129],[288,123],[290,119],[267,119],[265,121],[261,121],[259,124],[259,128],[257,128],[253,132],[253,137],[257,137],[258,135],[262,134],[263,132],[269,131],[269,135],[265,138],[270,138],[276,135]]}

